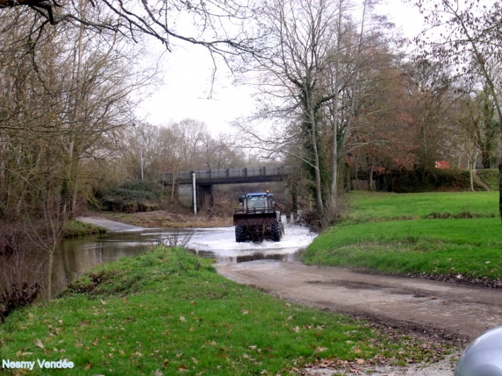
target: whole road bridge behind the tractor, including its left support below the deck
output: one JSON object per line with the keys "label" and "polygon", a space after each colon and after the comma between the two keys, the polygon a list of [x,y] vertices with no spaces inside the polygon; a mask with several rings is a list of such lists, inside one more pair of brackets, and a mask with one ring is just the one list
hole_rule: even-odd
{"label": "whole road bridge behind the tractor, including its left support below the deck", "polygon": [[[214,202],[212,187],[217,184],[263,183],[283,181],[294,167],[284,164],[267,164],[257,167],[219,168],[216,170],[191,170],[164,173],[164,184],[175,184],[179,201],[185,206],[208,207]],[[195,197],[195,200],[194,200]]]}

